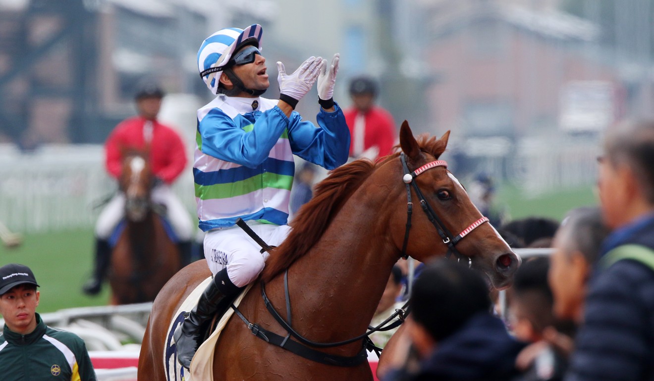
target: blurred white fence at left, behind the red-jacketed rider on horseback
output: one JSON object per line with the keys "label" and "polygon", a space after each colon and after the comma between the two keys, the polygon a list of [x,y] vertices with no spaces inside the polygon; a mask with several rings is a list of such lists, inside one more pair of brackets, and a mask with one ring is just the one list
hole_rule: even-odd
{"label": "blurred white fence at left, behind the red-jacketed rider on horseback", "polygon": [[[0,222],[10,231],[92,227],[98,205],[115,190],[101,145],[43,146],[29,153],[0,145]],[[190,165],[173,190],[194,216]]]}

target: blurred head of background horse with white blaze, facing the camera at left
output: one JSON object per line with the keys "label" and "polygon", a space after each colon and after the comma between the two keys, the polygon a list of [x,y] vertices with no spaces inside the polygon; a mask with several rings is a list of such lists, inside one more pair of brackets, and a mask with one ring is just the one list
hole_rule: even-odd
{"label": "blurred head of background horse with white blaze, facing the camera at left", "polygon": [[141,222],[150,210],[152,173],[146,153],[136,150],[123,152],[120,190],[125,195],[125,214],[128,220]]}

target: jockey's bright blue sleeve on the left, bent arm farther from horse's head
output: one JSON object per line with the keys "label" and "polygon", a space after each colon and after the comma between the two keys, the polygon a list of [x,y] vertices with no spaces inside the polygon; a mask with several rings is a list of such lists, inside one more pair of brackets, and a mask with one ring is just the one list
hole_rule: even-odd
{"label": "jockey's bright blue sleeve on the left, bent arm farther from horse's head", "polygon": [[[241,117],[242,118],[242,117]],[[198,123],[204,154],[256,168],[266,160],[270,150],[288,127],[288,118],[275,106],[257,118],[246,131],[219,108],[214,108]]]}

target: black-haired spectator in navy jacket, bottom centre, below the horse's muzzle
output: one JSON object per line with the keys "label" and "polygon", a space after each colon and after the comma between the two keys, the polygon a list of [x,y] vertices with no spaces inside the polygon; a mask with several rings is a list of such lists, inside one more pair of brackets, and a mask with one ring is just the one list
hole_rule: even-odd
{"label": "black-haired spectator in navy jacket, bottom centre, below the horse's muzzle", "polygon": [[[483,278],[451,261],[430,263],[411,293],[383,381],[509,380],[524,344],[492,316]],[[378,373],[379,374],[379,373]]]}

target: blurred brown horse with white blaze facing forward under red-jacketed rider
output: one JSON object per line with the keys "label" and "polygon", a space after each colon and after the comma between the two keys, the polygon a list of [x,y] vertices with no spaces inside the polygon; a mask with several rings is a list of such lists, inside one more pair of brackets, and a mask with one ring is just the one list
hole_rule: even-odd
{"label": "blurred brown horse with white blaze facing forward under red-jacketed rider", "polygon": [[146,152],[123,153],[119,184],[125,218],[111,254],[112,305],[154,301],[165,282],[182,268],[179,248],[160,216],[165,210],[150,197],[154,175],[146,157]]}

